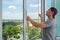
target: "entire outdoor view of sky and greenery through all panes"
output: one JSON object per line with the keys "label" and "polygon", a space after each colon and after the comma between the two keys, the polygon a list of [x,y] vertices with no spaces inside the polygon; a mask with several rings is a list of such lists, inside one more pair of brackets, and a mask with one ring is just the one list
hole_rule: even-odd
{"label": "entire outdoor view of sky and greenery through all panes", "polygon": [[[49,1],[49,2],[48,2]],[[3,0],[3,40],[23,40],[23,0]],[[40,23],[41,0],[27,0],[27,16]],[[51,7],[51,1],[46,0],[46,10]],[[41,28],[35,28],[31,23],[26,28],[27,40],[42,39]]]}

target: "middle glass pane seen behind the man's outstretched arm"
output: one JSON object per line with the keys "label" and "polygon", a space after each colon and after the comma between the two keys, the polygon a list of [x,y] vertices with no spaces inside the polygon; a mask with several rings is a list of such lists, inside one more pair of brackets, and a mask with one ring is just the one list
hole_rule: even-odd
{"label": "middle glass pane seen behind the man's outstretched arm", "polygon": [[[27,0],[27,16],[40,23],[39,13],[41,13],[41,0]],[[29,23],[26,30],[27,40],[40,40],[42,38],[41,28],[36,28],[31,23]]]}

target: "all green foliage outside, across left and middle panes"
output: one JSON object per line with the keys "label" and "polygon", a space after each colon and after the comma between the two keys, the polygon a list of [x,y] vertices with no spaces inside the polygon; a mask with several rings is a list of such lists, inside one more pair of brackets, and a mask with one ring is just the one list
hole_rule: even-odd
{"label": "all green foliage outside, across left and middle panes", "polygon": [[[20,36],[17,36],[17,34],[23,34],[23,27],[18,27],[17,25],[22,24],[22,21],[19,22],[12,22],[12,21],[8,21],[8,22],[3,22],[3,36],[7,37],[9,36],[13,36],[14,38],[20,38]],[[23,24],[22,24],[23,25]],[[42,38],[42,32],[40,28],[35,28],[34,26],[27,26],[27,36],[28,36],[28,40],[35,40],[35,39],[39,39]],[[40,31],[39,31],[40,30]]]}

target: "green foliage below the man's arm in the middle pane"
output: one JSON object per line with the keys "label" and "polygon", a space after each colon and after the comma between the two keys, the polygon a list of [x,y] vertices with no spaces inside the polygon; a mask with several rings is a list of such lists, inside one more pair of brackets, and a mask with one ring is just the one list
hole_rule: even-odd
{"label": "green foliage below the man's arm in the middle pane", "polygon": [[28,26],[27,28],[27,32],[28,32],[28,37],[29,40],[35,40],[35,39],[39,39],[42,37],[42,33],[40,32],[40,28],[35,28],[35,27],[30,27]]}

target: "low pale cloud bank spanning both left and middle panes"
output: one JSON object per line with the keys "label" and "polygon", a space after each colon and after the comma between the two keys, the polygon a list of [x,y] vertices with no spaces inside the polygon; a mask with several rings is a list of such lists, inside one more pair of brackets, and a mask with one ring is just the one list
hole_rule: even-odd
{"label": "low pale cloud bank spanning both left and middle panes", "polygon": [[[37,12],[28,13],[27,16],[30,16],[32,19],[38,19]],[[23,19],[23,13],[3,12],[2,18],[3,19]]]}

